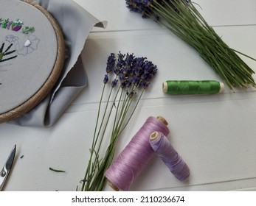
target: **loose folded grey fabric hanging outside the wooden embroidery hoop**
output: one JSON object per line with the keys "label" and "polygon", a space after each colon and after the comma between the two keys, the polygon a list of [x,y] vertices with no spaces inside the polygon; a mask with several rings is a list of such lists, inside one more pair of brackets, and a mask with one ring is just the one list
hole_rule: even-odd
{"label": "loose folded grey fabric hanging outside the wooden embroidery hoop", "polygon": [[72,0],[35,1],[58,21],[65,38],[66,60],[55,88],[44,101],[29,113],[8,123],[20,126],[50,127],[86,87],[86,74],[80,53],[93,26],[104,27],[105,25]]}

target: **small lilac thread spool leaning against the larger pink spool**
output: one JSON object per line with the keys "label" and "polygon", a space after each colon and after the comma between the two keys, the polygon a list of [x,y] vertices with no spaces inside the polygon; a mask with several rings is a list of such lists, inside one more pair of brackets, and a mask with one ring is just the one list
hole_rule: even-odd
{"label": "small lilac thread spool leaning against the larger pink spool", "polygon": [[150,144],[153,151],[178,180],[185,181],[188,179],[190,169],[162,132],[153,132],[150,137]]}

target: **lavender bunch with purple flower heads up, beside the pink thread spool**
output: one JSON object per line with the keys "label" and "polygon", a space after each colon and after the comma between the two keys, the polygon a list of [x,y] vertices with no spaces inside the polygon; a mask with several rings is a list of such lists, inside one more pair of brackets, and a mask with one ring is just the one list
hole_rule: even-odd
{"label": "lavender bunch with purple flower heads up, beside the pink thread spool", "polygon": [[[109,55],[89,163],[81,191],[103,190],[106,181],[104,174],[114,158],[117,139],[131,120],[142,94],[151,84],[156,71],[156,65],[146,57],[135,57],[134,54],[121,52]],[[106,87],[110,87],[109,93],[105,92]],[[103,96],[107,96],[107,102],[102,110]],[[111,117],[114,119],[113,122],[109,122]],[[111,134],[106,134],[108,127],[111,127]],[[104,150],[103,140],[108,137],[108,147]],[[104,156],[100,157],[102,153]]]}

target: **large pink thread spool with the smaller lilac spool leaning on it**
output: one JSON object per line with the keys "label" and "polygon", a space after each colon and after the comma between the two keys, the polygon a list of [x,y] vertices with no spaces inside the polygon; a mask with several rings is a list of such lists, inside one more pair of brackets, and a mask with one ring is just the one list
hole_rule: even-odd
{"label": "large pink thread spool with the smaller lilac spool leaning on it", "polygon": [[162,117],[149,117],[145,124],[136,132],[130,143],[105,171],[108,184],[115,191],[128,191],[131,183],[148,164],[154,152],[149,143],[152,132],[160,131],[169,134],[167,121]]}

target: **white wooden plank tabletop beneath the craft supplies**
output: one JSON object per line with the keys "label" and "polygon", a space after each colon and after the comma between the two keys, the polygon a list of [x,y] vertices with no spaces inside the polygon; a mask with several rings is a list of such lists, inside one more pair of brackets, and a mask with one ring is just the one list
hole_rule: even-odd
{"label": "white wooden plank tabletop beneath the craft supplies", "polygon": [[[179,182],[161,160],[153,158],[131,191],[256,191],[255,90],[230,93],[225,89],[224,94],[214,96],[166,95],[162,82],[168,79],[221,79],[196,51],[155,22],[131,13],[124,0],[75,1],[100,21],[108,21],[106,29],[91,31],[83,50],[89,85],[53,127],[0,124],[0,165],[17,144],[5,191],[75,191],[80,185],[89,158],[105,61],[111,52],[118,51],[148,57],[159,72],[122,133],[117,153],[148,116],[163,116],[169,122],[171,143],[191,171],[188,182]],[[256,57],[255,0],[196,3],[229,46]],[[242,58],[256,71],[254,61]],[[49,167],[66,172],[55,173]]]}

